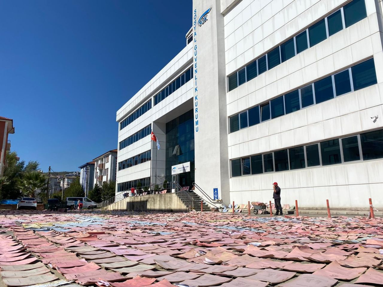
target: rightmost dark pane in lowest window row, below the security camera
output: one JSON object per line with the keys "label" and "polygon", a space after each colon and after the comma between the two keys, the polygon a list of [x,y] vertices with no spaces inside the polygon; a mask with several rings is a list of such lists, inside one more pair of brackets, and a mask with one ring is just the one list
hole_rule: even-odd
{"label": "rightmost dark pane in lowest window row, below the security camera", "polygon": [[383,158],[383,130],[375,130],[360,135],[363,160]]}

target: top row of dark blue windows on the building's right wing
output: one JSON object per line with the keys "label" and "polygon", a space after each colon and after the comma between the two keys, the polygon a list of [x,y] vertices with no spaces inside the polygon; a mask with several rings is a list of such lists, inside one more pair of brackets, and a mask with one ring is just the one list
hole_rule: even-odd
{"label": "top row of dark blue windows on the building's right wing", "polygon": [[[274,47],[265,55],[252,60],[252,62],[246,66],[247,77],[245,82],[276,67],[281,64],[281,62],[285,62],[300,52],[315,46],[324,41],[327,37],[336,34],[340,30],[347,28],[366,17],[365,0],[353,0],[352,2],[349,2],[344,7],[334,11],[331,15],[319,19],[319,21],[312,24],[308,29],[298,32],[292,38],[287,39],[283,44]],[[345,23],[345,27],[343,26],[343,22]],[[256,66],[258,66],[258,73],[255,73]],[[251,73],[249,72],[249,68],[251,68]],[[239,80],[239,83],[237,81],[237,75],[239,75],[240,72],[244,73],[241,69],[229,76],[229,91],[244,83],[244,77]]]}

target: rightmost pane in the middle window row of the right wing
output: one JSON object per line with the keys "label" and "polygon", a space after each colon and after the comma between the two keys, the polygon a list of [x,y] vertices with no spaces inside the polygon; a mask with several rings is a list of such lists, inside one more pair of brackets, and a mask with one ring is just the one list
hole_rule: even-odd
{"label": "rightmost pane in the middle window row of the right wing", "polygon": [[374,59],[364,61],[351,67],[351,74],[355,91],[377,83]]}

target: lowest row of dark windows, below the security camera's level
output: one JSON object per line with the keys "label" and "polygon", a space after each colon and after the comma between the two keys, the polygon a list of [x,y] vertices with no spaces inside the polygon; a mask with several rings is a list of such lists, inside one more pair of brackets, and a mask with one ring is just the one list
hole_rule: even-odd
{"label": "lowest row of dark windows, below the security camera's level", "polygon": [[[362,152],[363,157],[360,156]],[[383,158],[383,129],[231,160],[232,176]],[[242,164],[242,165],[241,165]],[[234,168],[235,166],[235,168]],[[242,172],[241,172],[242,168]],[[234,171],[234,173],[233,173]],[[235,174],[235,175],[234,175]]]}

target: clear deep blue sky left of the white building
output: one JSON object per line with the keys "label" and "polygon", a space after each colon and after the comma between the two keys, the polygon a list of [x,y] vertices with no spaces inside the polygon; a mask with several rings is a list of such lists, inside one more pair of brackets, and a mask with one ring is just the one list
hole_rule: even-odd
{"label": "clear deep blue sky left of the white building", "polygon": [[117,148],[116,111],[186,45],[191,0],[0,2],[0,116],[47,171]]}

